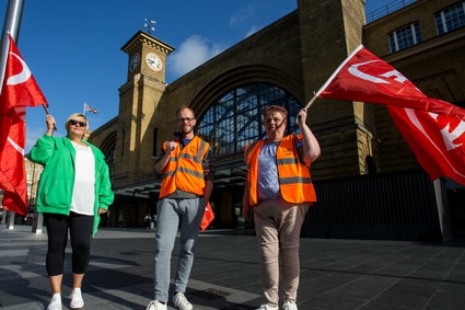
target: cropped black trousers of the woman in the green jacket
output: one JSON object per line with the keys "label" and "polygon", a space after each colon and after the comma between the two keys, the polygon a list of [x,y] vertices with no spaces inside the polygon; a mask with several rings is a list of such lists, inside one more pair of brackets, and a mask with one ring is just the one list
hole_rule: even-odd
{"label": "cropped black trousers of the woman in the green jacket", "polygon": [[63,273],[65,249],[68,242],[68,229],[72,248],[72,273],[84,274],[91,255],[91,236],[93,216],[70,213],[67,215],[44,214],[48,234],[46,267],[48,276]]}

